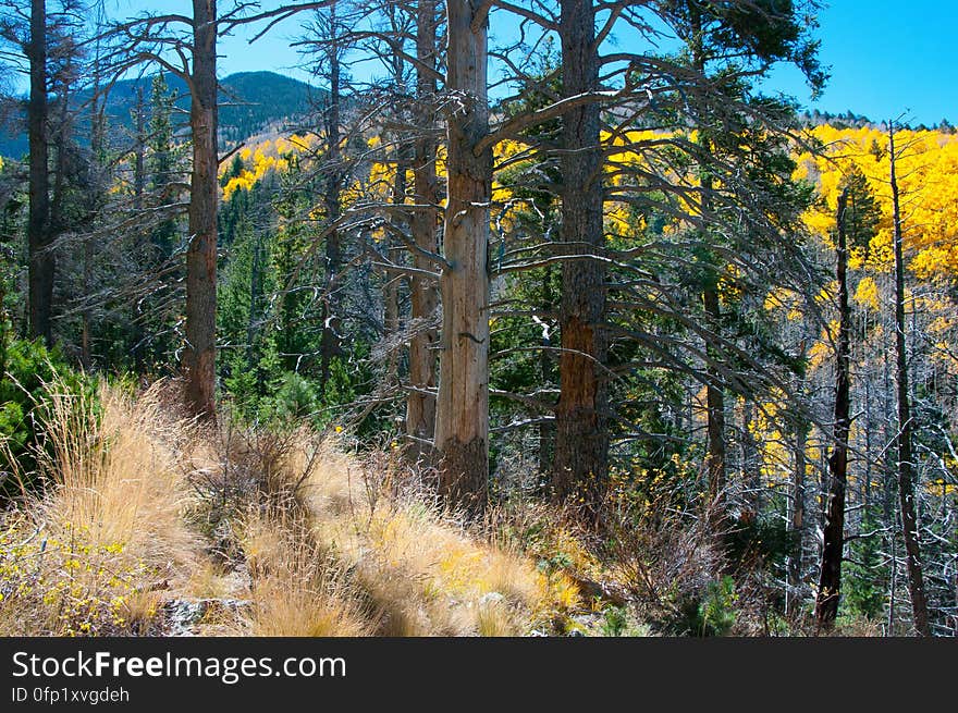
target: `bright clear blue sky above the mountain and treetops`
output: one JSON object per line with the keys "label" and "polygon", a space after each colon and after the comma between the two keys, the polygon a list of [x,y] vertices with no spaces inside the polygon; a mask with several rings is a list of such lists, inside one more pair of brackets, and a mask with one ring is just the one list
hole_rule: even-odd
{"label": "bright clear blue sky above the mountain and treetops", "polygon": [[[230,3],[220,4],[225,9]],[[120,0],[111,10],[120,14],[146,8],[188,13],[189,2]],[[769,90],[785,91],[802,105],[832,113],[851,110],[879,121],[908,111],[913,124],[936,125],[943,118],[958,123],[958,1],[832,0],[819,20],[820,58],[832,73],[819,101],[810,103],[803,77],[794,69],[776,70]],[[293,69],[298,56],[288,40],[296,34],[296,21],[291,20],[253,46],[242,32],[226,38],[221,44],[221,75],[272,70],[306,78]]]}

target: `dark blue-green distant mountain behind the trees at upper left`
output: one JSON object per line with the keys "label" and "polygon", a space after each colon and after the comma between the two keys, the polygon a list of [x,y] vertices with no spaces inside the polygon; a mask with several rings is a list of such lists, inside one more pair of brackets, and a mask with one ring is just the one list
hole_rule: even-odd
{"label": "dark blue-green distant mountain behind the trees at upper left", "polygon": [[[144,76],[116,82],[110,89],[106,112],[110,136],[118,145],[128,143],[131,138],[137,89],[143,89],[148,105],[151,84],[152,76]],[[180,133],[185,133],[189,120],[186,84],[180,77],[167,74],[167,85],[177,97],[175,107],[181,110],[173,116],[174,125]],[[315,110],[324,94],[323,89],[274,72],[231,74],[220,81],[220,144],[225,148],[270,128],[295,125]],[[76,106],[88,101],[89,96],[89,93],[77,95]],[[87,121],[81,113],[77,121],[81,140]],[[20,158],[28,150],[25,122],[14,118],[9,123],[11,125],[0,127],[0,156]]]}

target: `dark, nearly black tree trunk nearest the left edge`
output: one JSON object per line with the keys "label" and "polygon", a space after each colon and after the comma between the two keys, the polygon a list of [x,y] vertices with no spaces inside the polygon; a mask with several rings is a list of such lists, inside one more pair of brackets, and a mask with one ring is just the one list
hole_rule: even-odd
{"label": "dark, nearly black tree trunk nearest the left edge", "polygon": [[50,170],[47,139],[47,4],[30,2],[29,54],[30,95],[27,107],[29,139],[29,333],[53,344],[53,274],[56,261],[50,233]]}

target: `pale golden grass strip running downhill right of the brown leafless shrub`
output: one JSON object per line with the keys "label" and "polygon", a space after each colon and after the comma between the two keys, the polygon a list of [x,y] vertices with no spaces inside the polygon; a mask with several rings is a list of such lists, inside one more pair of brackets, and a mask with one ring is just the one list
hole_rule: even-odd
{"label": "pale golden grass strip running downhill right of the brown leafless shrub", "polygon": [[[397,460],[360,464],[328,445],[291,458],[318,541],[353,573],[386,636],[517,636],[578,603],[521,554],[469,532]],[[304,465],[310,464],[304,469]]]}

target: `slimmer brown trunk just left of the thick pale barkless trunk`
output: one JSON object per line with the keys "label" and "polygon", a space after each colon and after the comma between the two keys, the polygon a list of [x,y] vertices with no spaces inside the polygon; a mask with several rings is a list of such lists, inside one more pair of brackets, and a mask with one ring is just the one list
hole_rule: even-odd
{"label": "slimmer brown trunk just left of the thick pale barkless trunk", "polygon": [[[435,2],[421,0],[417,8],[416,59],[425,66],[416,70],[418,101],[417,124],[421,133],[416,137],[413,161],[413,182],[416,209],[412,214],[414,244],[428,251],[438,251],[435,232],[439,205],[439,186],[435,175],[437,142],[431,133],[435,107],[435,77],[429,72],[435,66]],[[419,270],[432,270],[433,265],[420,254],[413,256],[413,266]],[[435,282],[425,275],[414,274],[409,281],[412,302],[410,317],[417,321],[431,320],[439,307]],[[435,346],[439,335],[435,329],[417,329],[409,342],[409,395],[406,397],[406,432],[413,437],[409,456],[416,460],[428,459],[435,429]]]}

